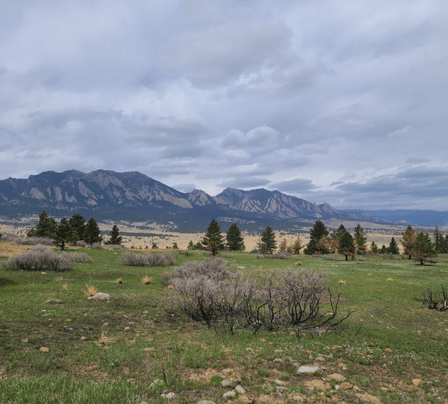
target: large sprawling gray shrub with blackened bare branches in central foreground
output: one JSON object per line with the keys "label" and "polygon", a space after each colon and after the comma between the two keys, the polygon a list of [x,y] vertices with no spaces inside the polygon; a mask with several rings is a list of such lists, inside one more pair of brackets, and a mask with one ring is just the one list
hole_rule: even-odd
{"label": "large sprawling gray shrub with blackened bare branches in central foreground", "polygon": [[[336,326],[340,293],[334,296],[323,272],[289,268],[279,274],[250,278],[241,273],[203,269],[193,261],[162,275],[162,284],[172,285],[165,293],[165,314],[169,319],[184,314],[206,326],[302,330]],[[189,269],[189,270],[188,270]],[[177,276],[176,276],[177,274]],[[325,301],[325,302],[324,302]]]}

